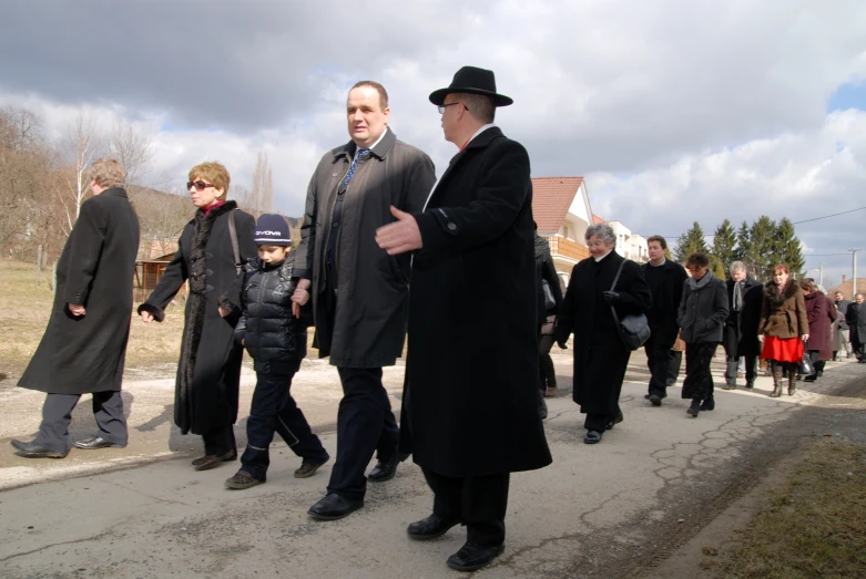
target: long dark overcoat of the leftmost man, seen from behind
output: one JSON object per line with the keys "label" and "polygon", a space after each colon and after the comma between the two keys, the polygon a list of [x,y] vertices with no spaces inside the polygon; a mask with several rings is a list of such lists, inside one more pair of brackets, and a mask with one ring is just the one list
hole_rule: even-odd
{"label": "long dark overcoat of the leftmost man, seen from behind", "polygon": [[[48,328],[19,386],[53,394],[121,389],[139,252],[139,218],[126,192],[105,189],[81,205],[58,261]],[[74,317],[68,303],[86,314]]]}

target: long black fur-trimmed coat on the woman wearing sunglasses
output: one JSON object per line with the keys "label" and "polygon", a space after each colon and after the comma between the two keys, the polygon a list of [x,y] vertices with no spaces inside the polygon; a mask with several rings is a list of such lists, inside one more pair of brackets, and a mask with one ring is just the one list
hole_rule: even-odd
{"label": "long black fur-trimmed coat on the woman wearing sunglasses", "polygon": [[[174,394],[174,422],[183,434],[205,434],[234,424],[241,383],[243,349],[234,340],[234,327],[241,317],[242,277],[235,269],[230,213],[235,201],[212,209],[205,217],[198,209],[181,232],[177,252],[160,283],[139,312],[151,312],[156,321],[190,280],[185,322],[177,363]],[[256,256],[255,219],[235,211],[241,260]],[[231,313],[220,316],[222,306]]]}

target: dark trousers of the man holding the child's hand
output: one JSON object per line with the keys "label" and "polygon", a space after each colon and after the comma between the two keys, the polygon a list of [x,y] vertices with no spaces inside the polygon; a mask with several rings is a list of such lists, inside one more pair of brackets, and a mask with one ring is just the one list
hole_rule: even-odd
{"label": "dark trousers of the man holding the child's hand", "polygon": [[381,385],[381,368],[338,368],[343,400],[337,411],[337,462],[330,471],[328,493],[364,498],[364,472],[374,452],[388,461],[397,452],[400,430]]}

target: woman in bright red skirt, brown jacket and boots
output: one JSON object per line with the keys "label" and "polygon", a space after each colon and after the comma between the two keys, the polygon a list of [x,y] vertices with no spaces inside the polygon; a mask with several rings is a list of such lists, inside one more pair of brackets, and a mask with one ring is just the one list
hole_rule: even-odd
{"label": "woman in bright red skirt, brown jacket and boots", "polygon": [[782,395],[782,371],[787,370],[787,393],[797,391],[797,366],[803,359],[803,342],[808,340],[808,318],[803,290],[791,279],[785,266],[773,268],[773,281],[764,287],[764,303],[757,330],[764,341],[761,358],[770,361],[773,393]]}

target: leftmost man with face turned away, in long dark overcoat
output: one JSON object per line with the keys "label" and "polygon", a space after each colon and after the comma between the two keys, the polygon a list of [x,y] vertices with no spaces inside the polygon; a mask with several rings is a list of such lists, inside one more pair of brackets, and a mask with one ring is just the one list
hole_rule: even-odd
{"label": "leftmost man with face turned away, in long dark overcoat", "polygon": [[60,256],[48,328],[18,385],[45,392],[42,424],[30,442],[11,441],[30,458],[63,458],[69,423],[81,394],[93,394],[99,433],[79,448],[126,446],[121,381],[132,314],[139,218],[122,188],[125,173],[113,158],[90,168],[93,197]]}

